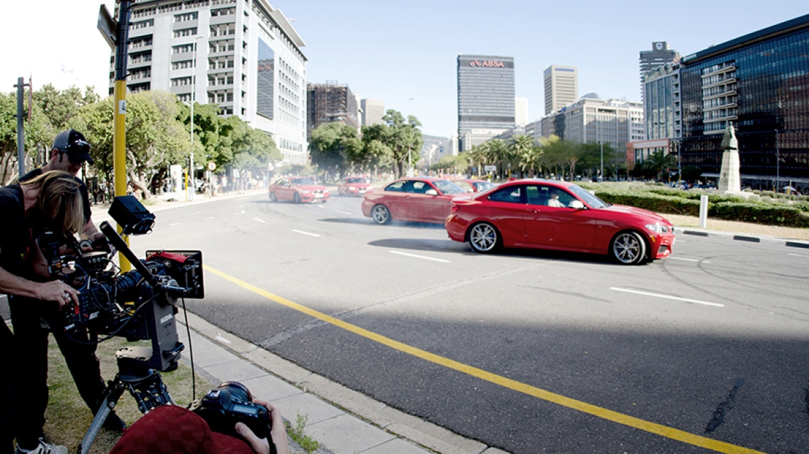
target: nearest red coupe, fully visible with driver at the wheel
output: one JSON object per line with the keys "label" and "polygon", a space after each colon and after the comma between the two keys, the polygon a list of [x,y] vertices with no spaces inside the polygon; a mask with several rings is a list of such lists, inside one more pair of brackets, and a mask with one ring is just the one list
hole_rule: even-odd
{"label": "nearest red coupe, fully visible with driver at the wheel", "polygon": [[518,180],[453,200],[445,223],[472,250],[499,247],[608,254],[618,263],[663,259],[674,246],[671,222],[654,212],[606,204],[573,183]]}

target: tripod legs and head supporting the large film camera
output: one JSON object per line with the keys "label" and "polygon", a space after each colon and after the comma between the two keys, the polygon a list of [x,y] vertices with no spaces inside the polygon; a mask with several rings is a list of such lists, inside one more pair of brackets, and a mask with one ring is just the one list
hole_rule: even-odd
{"label": "tripod legs and head supporting the large film camera", "polygon": [[118,364],[118,373],[115,380],[109,381],[104,389],[104,400],[101,402],[98,413],[95,414],[87,434],[78,444],[78,454],[85,454],[95,441],[104,421],[107,420],[112,409],[125,391],[138,403],[138,410],[146,414],[159,406],[177,405],[168,388],[160,378],[160,372],[150,368],[148,359],[152,355],[150,347],[124,347],[116,351],[115,358]]}

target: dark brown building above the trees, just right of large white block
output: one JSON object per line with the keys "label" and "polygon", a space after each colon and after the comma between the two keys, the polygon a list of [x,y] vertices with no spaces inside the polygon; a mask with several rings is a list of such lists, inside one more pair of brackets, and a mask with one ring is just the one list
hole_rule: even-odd
{"label": "dark brown building above the trees, just right of large white block", "polygon": [[318,126],[339,121],[359,131],[359,106],[357,98],[346,84],[307,84],[307,137]]}

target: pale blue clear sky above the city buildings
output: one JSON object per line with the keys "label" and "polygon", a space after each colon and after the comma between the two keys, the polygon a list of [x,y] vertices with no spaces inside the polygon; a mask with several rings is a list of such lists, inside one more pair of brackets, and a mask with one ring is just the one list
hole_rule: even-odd
{"label": "pale blue clear sky above the city buildings", "polygon": [[[638,53],[667,41],[683,55],[809,14],[806,0],[677,2],[537,0],[268,0],[306,43],[307,82],[348,84],[360,98],[417,116],[423,132],[457,130],[456,57],[515,58],[516,96],[529,121],[544,114],[542,74],[578,67],[578,95],[640,101]],[[99,0],[6,2],[0,19],[0,87],[33,75],[60,89],[107,90],[108,44]],[[112,13],[113,2],[107,2]],[[30,19],[27,19],[30,18]],[[413,99],[410,101],[409,99]]]}

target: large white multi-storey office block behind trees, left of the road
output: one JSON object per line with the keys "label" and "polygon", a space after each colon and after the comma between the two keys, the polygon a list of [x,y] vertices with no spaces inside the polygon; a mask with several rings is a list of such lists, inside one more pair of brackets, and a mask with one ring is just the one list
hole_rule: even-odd
{"label": "large white multi-storey office block behind trees, left of the road", "polygon": [[217,104],[273,137],[285,162],[307,162],[305,44],[280,10],[265,0],[141,1],[130,23],[129,93]]}

